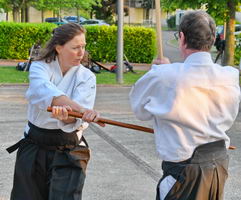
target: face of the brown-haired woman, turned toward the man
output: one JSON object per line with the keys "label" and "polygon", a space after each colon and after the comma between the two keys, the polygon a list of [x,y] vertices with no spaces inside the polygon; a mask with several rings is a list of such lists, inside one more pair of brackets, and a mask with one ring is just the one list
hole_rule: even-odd
{"label": "face of the brown-haired woman, turned toward the man", "polygon": [[64,45],[56,46],[59,64],[63,72],[66,72],[70,67],[80,64],[84,57],[85,45],[85,35],[79,34]]}

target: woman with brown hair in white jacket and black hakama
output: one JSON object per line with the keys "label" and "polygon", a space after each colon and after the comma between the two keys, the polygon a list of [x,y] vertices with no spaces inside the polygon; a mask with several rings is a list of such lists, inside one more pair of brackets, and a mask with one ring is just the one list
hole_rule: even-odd
{"label": "woman with brown hair in white jacket and black hakama", "polygon": [[[92,110],[96,79],[80,62],[85,30],[68,23],[53,36],[31,64],[26,93],[28,124],[25,137],[8,150],[18,149],[12,200],[81,199],[89,148],[82,136],[88,122],[98,122]],[[46,112],[52,106],[52,114]],[[83,118],[68,116],[68,111]]]}

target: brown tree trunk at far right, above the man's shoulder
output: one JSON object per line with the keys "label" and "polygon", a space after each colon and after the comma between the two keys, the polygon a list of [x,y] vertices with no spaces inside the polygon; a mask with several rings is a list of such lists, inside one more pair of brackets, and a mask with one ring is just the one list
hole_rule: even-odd
{"label": "brown tree trunk at far right, above the man's shoulder", "polygon": [[228,21],[226,29],[225,50],[222,65],[234,65],[234,49],[235,49],[235,0],[228,0]]}

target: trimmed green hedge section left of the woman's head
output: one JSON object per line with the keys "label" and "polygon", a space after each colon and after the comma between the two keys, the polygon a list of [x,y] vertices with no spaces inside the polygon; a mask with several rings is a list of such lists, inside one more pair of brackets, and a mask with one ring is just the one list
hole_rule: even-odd
{"label": "trimmed green hedge section left of the woman's head", "polygon": [[0,58],[27,59],[33,44],[45,43],[53,28],[50,23],[0,23]]}

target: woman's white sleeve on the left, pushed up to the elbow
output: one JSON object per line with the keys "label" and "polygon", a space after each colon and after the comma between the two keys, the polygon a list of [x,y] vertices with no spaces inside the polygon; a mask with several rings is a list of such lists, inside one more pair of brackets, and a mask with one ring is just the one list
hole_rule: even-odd
{"label": "woman's white sleeve on the left, pushed up to the elbow", "polygon": [[29,88],[26,98],[30,104],[46,110],[51,105],[53,97],[65,95],[51,81],[48,68],[38,62],[33,62],[29,71]]}

